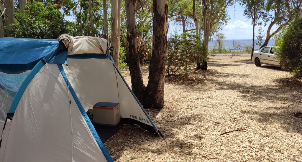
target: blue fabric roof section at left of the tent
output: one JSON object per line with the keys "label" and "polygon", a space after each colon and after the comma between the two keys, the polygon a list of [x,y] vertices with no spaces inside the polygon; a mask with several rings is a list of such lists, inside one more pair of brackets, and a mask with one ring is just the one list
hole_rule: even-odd
{"label": "blue fabric roof section at left of the tent", "polygon": [[67,59],[67,50],[59,47],[58,40],[0,38],[0,64],[29,64],[43,57],[49,62],[62,52],[65,57],[56,58],[52,63],[65,63]]}

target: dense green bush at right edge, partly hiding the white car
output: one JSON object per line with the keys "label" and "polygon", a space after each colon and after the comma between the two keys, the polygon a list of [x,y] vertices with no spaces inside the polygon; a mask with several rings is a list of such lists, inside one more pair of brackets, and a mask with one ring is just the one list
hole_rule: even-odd
{"label": "dense green bush at right edge, partly hiding the white car", "polygon": [[297,77],[302,76],[302,18],[297,18],[276,36],[280,65]]}

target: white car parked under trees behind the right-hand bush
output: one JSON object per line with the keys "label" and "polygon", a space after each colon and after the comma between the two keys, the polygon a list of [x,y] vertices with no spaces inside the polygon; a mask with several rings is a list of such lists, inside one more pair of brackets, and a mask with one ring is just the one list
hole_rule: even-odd
{"label": "white car parked under trees behind the right-hand bush", "polygon": [[272,46],[265,46],[259,49],[258,51],[254,51],[253,62],[255,62],[256,66],[261,66],[261,64],[271,65],[280,67],[280,62],[277,56],[274,54],[274,49]]}

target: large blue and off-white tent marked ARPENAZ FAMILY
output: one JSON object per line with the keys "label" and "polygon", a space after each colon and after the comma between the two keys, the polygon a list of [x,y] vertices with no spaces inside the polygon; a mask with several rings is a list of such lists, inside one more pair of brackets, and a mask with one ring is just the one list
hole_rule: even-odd
{"label": "large blue and off-white tent marked ARPENAZ FAMILY", "polygon": [[58,40],[0,38],[0,161],[112,161],[86,114],[100,101],[158,133],[106,40],[72,39],[62,50]]}

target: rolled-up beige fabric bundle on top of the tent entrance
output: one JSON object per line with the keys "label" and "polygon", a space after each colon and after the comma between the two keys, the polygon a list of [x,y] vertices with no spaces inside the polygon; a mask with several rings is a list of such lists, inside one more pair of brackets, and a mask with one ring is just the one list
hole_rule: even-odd
{"label": "rolled-up beige fabric bundle on top of the tent entrance", "polygon": [[58,39],[59,42],[64,43],[65,48],[68,48],[68,55],[77,55],[84,53],[106,54],[107,49],[109,49],[111,46],[111,44],[106,39],[98,37],[72,37],[68,34],[62,34]]}

